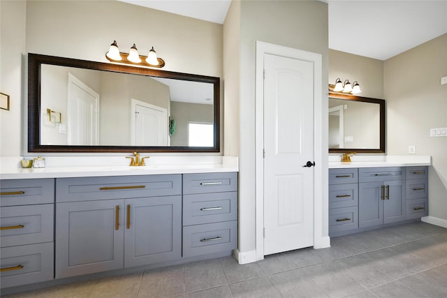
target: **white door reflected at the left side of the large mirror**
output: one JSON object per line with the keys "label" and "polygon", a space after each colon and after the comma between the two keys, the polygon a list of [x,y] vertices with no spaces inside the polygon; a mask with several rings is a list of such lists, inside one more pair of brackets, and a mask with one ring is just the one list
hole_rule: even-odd
{"label": "white door reflected at the left side of the large mirror", "polygon": [[67,142],[91,146],[99,142],[99,94],[68,74]]}

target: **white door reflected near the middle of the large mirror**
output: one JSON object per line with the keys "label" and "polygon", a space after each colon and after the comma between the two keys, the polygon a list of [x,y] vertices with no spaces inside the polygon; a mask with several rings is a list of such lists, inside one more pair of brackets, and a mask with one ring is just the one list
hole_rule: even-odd
{"label": "white door reflected near the middle of the large mirror", "polygon": [[132,144],[168,146],[168,110],[135,99],[132,105]]}

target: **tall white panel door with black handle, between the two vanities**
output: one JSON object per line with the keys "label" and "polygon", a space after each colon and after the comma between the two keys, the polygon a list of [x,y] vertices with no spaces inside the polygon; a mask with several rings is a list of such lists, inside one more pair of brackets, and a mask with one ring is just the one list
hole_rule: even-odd
{"label": "tall white panel door with black handle, between the two vanities", "polygon": [[264,55],[264,254],[314,245],[313,64]]}

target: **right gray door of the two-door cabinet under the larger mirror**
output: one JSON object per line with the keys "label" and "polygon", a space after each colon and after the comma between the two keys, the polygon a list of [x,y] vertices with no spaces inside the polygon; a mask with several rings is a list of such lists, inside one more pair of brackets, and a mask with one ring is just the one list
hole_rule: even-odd
{"label": "right gray door of the two-door cabinet under the larger mirror", "polygon": [[182,196],[126,200],[124,267],[182,257]]}

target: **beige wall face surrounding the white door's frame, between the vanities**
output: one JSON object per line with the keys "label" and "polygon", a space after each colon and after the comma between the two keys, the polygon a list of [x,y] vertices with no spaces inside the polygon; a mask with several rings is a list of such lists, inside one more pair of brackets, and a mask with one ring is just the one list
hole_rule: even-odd
{"label": "beige wall face surrounding the white door's frame, between the vanities", "polygon": [[[234,3],[233,3],[234,5]],[[299,50],[316,52],[323,57],[323,82],[328,82],[328,5],[321,1],[241,1],[233,17],[240,22],[239,96],[239,251],[255,250],[255,58],[256,40]],[[225,65],[229,63],[224,57]],[[228,86],[227,86],[228,88]],[[327,94],[327,87],[323,94]],[[323,96],[322,125],[327,139],[327,98]],[[327,148],[327,140],[323,140]]]}

